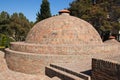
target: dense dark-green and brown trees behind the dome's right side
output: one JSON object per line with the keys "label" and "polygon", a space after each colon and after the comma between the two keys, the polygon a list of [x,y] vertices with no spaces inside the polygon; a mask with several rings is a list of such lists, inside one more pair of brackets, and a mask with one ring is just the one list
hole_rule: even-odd
{"label": "dense dark-green and brown trees behind the dome's right side", "polygon": [[71,15],[90,22],[98,32],[111,31],[113,27],[120,29],[117,21],[120,18],[119,5],[119,0],[74,0],[69,10]]}

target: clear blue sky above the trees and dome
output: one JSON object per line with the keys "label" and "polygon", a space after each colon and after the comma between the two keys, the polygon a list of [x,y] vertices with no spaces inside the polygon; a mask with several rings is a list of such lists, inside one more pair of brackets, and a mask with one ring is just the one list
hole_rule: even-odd
{"label": "clear blue sky above the trees and dome", "polygon": [[[52,15],[59,10],[68,8],[73,0],[49,0]],[[6,11],[10,15],[22,12],[30,21],[36,20],[36,13],[40,9],[42,0],[0,0],[0,12]]]}

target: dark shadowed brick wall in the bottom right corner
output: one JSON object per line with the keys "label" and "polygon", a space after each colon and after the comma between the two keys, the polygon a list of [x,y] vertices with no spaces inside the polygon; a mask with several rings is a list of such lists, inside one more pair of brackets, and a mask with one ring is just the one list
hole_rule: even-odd
{"label": "dark shadowed brick wall in the bottom right corner", "polygon": [[92,59],[92,80],[120,80],[120,64]]}

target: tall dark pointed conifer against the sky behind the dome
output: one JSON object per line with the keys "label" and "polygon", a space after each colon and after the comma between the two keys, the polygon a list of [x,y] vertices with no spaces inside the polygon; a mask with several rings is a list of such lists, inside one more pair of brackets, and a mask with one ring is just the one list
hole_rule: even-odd
{"label": "tall dark pointed conifer against the sky behind the dome", "polygon": [[51,17],[50,4],[48,0],[42,0],[40,11],[36,15],[36,22]]}

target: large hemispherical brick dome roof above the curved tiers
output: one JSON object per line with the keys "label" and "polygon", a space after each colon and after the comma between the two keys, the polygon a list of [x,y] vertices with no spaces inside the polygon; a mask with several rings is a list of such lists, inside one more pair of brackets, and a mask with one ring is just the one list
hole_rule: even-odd
{"label": "large hemispherical brick dome roof above the curved tiers", "polygon": [[62,13],[37,23],[28,33],[27,43],[37,44],[98,44],[102,40],[88,22]]}

